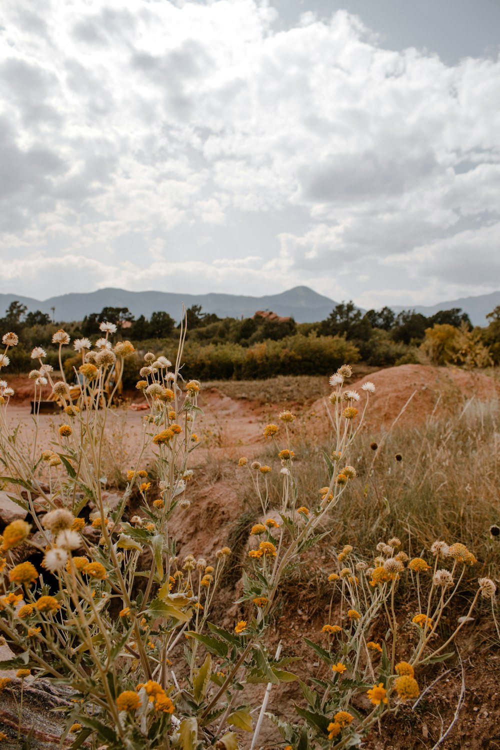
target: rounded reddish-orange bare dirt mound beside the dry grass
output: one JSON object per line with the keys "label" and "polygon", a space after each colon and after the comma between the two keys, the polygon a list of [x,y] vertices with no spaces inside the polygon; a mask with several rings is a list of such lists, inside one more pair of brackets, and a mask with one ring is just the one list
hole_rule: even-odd
{"label": "rounded reddish-orange bare dirt mound beside the dry grass", "polygon": [[398,425],[421,425],[434,410],[441,414],[455,410],[469,398],[490,401],[500,396],[500,385],[492,377],[458,368],[400,365],[372,373],[352,383],[352,388],[360,391],[367,380],[376,388],[366,421],[372,428],[390,427],[409,398]]}

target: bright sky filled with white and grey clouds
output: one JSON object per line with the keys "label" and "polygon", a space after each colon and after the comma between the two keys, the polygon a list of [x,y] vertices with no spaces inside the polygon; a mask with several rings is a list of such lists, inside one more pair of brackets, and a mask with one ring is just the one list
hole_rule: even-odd
{"label": "bright sky filled with white and grey clouds", "polygon": [[498,0],[2,0],[0,291],[500,287]]}

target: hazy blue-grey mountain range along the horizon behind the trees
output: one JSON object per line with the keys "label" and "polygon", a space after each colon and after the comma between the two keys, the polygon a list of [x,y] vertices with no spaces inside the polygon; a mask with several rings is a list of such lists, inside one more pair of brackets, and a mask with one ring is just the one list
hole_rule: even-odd
{"label": "hazy blue-grey mountain range along the horizon behind the trees", "polygon": [[[151,317],[154,311],[165,311],[175,320],[179,320],[182,304],[187,308],[201,305],[205,313],[215,313],[219,317],[252,317],[257,310],[271,310],[282,316],[292,316],[298,323],[315,323],[325,320],[337,302],[314,292],[309,287],[294,287],[280,294],[251,297],[233,294],[182,294],[174,292],[130,292],[123,289],[100,289],[88,293],[70,293],[45,300],[33,299],[15,294],[0,294],[0,314],[7,309],[10,302],[18,300],[26,305],[28,311],[40,310],[55,320],[82,320],[85,315],[99,313],[105,307],[128,308],[135,317]],[[415,309],[425,316],[439,310],[461,308],[469,314],[475,326],[487,325],[486,316],[497,305],[500,305],[500,291],[477,297],[439,302],[436,305],[407,305],[406,308],[388,305],[395,312]]]}

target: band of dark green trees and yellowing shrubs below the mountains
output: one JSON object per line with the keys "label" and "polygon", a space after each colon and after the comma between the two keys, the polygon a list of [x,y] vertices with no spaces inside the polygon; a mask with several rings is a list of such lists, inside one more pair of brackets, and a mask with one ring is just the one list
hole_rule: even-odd
{"label": "band of dark green trees and yellowing shrubs below the mountains", "polygon": [[[340,303],[326,320],[295,323],[293,318],[223,318],[207,314],[199,305],[187,310],[187,343],[184,371],[205,379],[244,379],[280,374],[303,375],[314,371],[328,374],[342,362],[363,361],[386,367],[428,362],[463,367],[487,367],[500,362],[500,307],[488,316],[484,328],[473,327],[458,308],[425,317],[413,310],[395,314],[390,308],[362,313],[353,302]],[[175,320],[156,311],[148,320],[137,318],[127,308],[103,308],[82,321],[64,322],[72,338],[88,336],[100,321],[115,323],[123,338],[130,339],[139,352],[158,348],[172,350],[178,338]],[[3,319],[4,330],[19,332],[19,347],[12,353],[11,371],[31,369],[30,353],[40,338],[52,334],[62,323],[50,320],[40,311],[27,312],[12,302]],[[48,361],[58,364],[55,350],[47,350]],[[52,362],[53,360],[53,362]],[[68,373],[73,353],[65,353]],[[133,386],[133,365],[126,386]]]}

